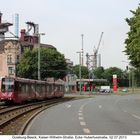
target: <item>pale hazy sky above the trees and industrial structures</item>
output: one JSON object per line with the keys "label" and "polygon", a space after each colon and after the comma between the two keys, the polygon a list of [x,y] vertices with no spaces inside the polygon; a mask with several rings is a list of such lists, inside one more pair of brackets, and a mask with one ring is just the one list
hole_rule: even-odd
{"label": "pale hazy sky above the trees and industrial structures", "polygon": [[[104,68],[128,65],[124,41],[129,26],[125,19],[133,15],[130,10],[138,8],[139,0],[0,0],[3,20],[13,22],[19,14],[19,29],[26,28],[25,22],[39,24],[41,42],[51,44],[65,58],[79,63],[77,51],[81,51],[83,34],[84,64],[86,53],[93,49],[104,32],[98,53]],[[13,28],[10,31],[14,32]]]}

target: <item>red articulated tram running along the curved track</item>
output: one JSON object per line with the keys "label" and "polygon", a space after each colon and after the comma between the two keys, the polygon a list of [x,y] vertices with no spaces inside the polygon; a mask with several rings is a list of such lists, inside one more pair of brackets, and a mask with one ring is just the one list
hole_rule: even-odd
{"label": "red articulated tram running along the curved track", "polygon": [[24,78],[5,77],[1,79],[0,101],[22,103],[32,100],[63,97],[64,83],[47,82]]}

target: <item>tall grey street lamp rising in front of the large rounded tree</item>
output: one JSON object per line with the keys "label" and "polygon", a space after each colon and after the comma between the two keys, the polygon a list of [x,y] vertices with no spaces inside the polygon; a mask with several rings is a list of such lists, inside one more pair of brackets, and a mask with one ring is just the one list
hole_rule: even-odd
{"label": "tall grey street lamp rising in front of the large rounded tree", "polygon": [[40,37],[41,35],[45,35],[45,33],[38,34],[38,80],[41,80],[41,74],[40,74]]}

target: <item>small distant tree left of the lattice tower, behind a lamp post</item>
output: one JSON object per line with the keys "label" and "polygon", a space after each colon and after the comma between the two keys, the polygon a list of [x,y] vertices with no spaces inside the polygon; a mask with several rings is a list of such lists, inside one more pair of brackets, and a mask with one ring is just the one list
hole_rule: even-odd
{"label": "small distant tree left of the lattice tower, behind a lamp post", "polygon": [[[76,74],[77,77],[79,77],[79,65],[75,65],[73,67],[73,73]],[[81,78],[88,78],[88,68],[85,66],[81,66]]]}

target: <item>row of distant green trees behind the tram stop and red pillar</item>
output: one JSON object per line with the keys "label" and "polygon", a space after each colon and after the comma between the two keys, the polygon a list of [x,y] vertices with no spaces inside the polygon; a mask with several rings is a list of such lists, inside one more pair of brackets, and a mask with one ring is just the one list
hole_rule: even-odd
{"label": "row of distant green trees behind the tram stop and red pillar", "polygon": [[[73,67],[73,73],[79,77],[79,65],[75,65]],[[127,71],[123,71],[120,68],[117,67],[110,67],[107,69],[104,69],[104,67],[98,67],[93,71],[93,74],[90,72],[90,76],[94,75],[93,77],[91,76],[90,78],[95,78],[95,79],[107,79],[109,82],[109,85],[112,86],[112,78],[113,75],[117,75],[118,79],[118,86],[123,86],[126,87],[128,86],[128,73]],[[88,79],[89,78],[89,71],[87,67],[81,66],[81,78]],[[99,83],[98,83],[99,84]],[[101,83],[103,84],[103,83]]]}

